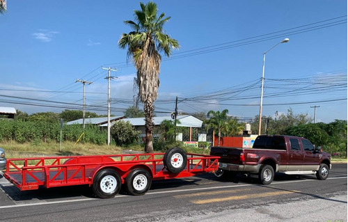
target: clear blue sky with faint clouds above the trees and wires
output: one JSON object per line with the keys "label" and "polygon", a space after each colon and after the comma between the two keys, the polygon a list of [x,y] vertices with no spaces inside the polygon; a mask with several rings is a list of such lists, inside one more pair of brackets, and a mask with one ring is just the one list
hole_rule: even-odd
{"label": "clear blue sky with faint clouds above the trees and wires", "polygon": [[[144,1],[146,2],[146,1]],[[347,120],[347,1],[155,1],[171,16],[164,30],[180,43],[162,56],[157,116],[228,109],[259,113],[266,54],[263,115],[308,113],[317,122]],[[0,106],[27,113],[82,109],[106,114],[132,105],[136,70],[118,48],[124,20],[139,1],[7,1],[0,15]]]}

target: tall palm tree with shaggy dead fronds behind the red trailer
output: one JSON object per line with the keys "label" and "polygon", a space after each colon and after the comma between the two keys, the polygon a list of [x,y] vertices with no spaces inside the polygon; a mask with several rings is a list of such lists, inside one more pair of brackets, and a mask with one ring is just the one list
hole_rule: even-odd
{"label": "tall palm tree with shaggy dead fronds behind the red trailer", "polygon": [[145,152],[153,152],[152,119],[159,88],[159,52],[163,51],[169,57],[171,49],[179,48],[179,43],[163,31],[164,24],[171,17],[165,17],[164,13],[157,16],[157,4],[152,1],[140,3],[140,6],[141,10],[134,10],[135,22],[125,21],[133,31],[123,33],[118,46],[121,49],[128,47],[127,56],[132,58],[136,68],[138,96],[145,113]]}

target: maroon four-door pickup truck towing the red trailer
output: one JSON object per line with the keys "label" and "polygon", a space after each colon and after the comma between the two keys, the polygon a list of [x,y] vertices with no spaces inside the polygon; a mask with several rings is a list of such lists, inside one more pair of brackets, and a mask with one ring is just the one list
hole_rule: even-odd
{"label": "maroon four-door pickup truck towing the red trailer", "polygon": [[275,172],[285,174],[316,174],[326,180],[331,169],[330,154],[296,136],[262,135],[253,148],[212,147],[210,154],[219,159],[218,177],[237,172],[257,176],[261,184],[271,184]]}

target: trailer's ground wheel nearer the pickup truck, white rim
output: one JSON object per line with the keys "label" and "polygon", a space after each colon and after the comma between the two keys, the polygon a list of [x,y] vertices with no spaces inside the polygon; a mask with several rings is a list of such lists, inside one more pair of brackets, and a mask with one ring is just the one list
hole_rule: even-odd
{"label": "trailer's ground wheel nearer the pickup truck, white rim", "polygon": [[151,187],[151,175],[142,168],[136,168],[126,177],[127,191],[134,195],[140,196],[148,192]]}

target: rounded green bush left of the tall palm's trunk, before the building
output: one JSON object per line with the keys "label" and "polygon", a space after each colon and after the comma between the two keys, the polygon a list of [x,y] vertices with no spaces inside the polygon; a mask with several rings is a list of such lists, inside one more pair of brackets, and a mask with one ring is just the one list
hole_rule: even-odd
{"label": "rounded green bush left of the tall palm's trunk, before the building", "polygon": [[136,131],[134,126],[123,120],[115,122],[111,127],[111,136],[115,140],[116,145],[129,145],[139,138],[140,131]]}

